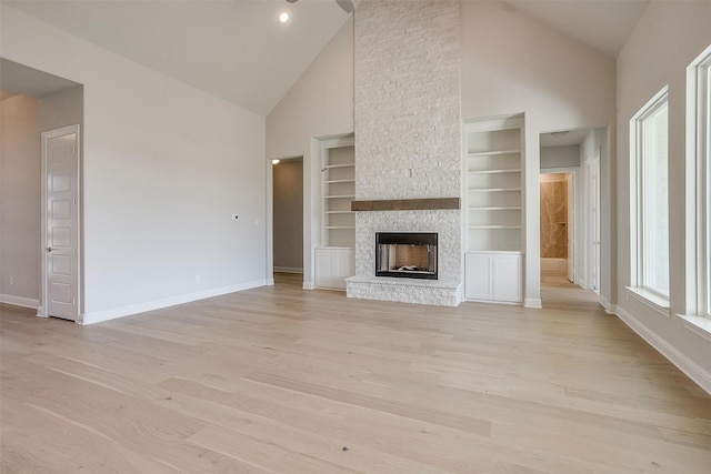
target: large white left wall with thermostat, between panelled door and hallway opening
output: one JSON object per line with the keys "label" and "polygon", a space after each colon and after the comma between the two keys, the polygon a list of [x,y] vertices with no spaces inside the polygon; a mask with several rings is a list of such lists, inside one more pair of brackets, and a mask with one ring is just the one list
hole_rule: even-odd
{"label": "large white left wall with thermostat, between panelled door and hallway opening", "polygon": [[263,284],[264,119],[0,9],[1,57],[84,85],[86,321]]}

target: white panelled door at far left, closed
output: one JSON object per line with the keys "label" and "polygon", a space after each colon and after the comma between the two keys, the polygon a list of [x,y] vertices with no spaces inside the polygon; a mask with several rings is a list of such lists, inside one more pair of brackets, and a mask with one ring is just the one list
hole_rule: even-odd
{"label": "white panelled door at far left, closed", "polygon": [[79,125],[42,133],[41,315],[79,317]]}

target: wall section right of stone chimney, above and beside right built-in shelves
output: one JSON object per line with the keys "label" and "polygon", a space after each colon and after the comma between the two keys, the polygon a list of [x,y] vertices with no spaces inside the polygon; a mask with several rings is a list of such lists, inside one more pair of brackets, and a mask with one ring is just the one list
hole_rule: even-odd
{"label": "wall section right of stone chimney, above and beside right built-in shelves", "polygon": [[614,60],[501,2],[463,1],[462,23],[462,117],[525,112],[524,291],[540,304],[539,134],[613,124]]}

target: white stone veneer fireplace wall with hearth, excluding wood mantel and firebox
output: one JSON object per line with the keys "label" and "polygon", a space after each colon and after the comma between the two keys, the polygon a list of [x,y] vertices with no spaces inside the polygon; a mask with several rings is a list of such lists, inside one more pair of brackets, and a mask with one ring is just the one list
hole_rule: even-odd
{"label": "white stone veneer fireplace wall with hearth, excluding wood mantel and firebox", "polygon": [[[459,196],[459,0],[367,0],[356,10],[356,199]],[[375,232],[438,232],[439,280],[374,278]],[[461,211],[356,215],[348,295],[455,305]]]}

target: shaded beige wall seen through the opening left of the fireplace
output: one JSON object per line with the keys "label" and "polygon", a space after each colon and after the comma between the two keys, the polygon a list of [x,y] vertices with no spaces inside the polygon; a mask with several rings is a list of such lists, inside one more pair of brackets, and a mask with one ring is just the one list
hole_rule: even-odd
{"label": "shaded beige wall seen through the opening left of the fireplace", "polygon": [[303,271],[303,160],[273,167],[274,269]]}

